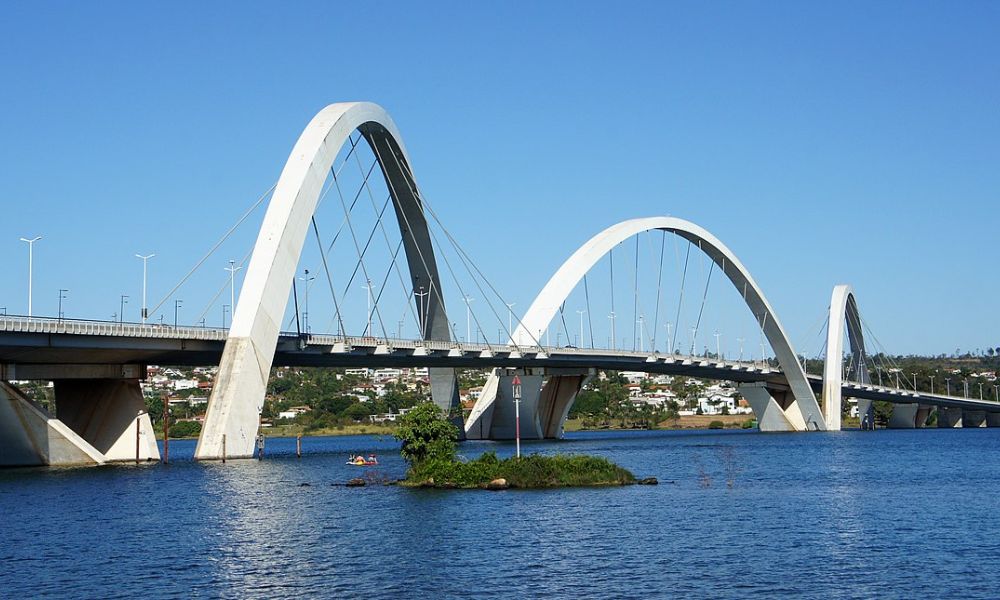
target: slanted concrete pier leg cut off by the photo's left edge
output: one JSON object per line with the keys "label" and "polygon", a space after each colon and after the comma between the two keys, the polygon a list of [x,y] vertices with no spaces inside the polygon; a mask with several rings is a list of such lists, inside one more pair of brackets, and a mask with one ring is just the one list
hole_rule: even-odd
{"label": "slanted concrete pier leg cut off by the photo's left edge", "polygon": [[104,456],[64,423],[0,381],[0,466],[99,465]]}

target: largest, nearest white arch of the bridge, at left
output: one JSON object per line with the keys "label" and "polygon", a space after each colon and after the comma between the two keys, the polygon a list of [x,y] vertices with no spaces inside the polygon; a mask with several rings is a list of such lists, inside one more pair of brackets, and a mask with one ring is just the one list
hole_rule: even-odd
{"label": "largest, nearest white arch of the bridge, at left", "polygon": [[[388,113],[369,102],[331,104],[295,143],[268,204],[240,291],[195,458],[253,455],[260,410],[282,318],[313,213],[334,159],[355,131],[374,151],[393,198],[413,292],[426,290],[425,339],[450,339],[423,204],[402,137]],[[435,402],[457,399],[454,372],[432,369]]]}

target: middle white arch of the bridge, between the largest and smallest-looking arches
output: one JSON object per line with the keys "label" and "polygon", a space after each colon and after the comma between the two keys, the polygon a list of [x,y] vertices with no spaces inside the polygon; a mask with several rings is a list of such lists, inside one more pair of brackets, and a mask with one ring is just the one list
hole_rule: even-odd
{"label": "middle white arch of the bridge, between the largest and smallest-looking arches", "polygon": [[764,336],[774,349],[794,401],[784,407],[789,425],[796,430],[826,429],[816,396],[813,394],[802,365],[785,333],[778,316],[764,297],[757,282],[733,252],[718,238],[698,225],[676,217],[646,217],[630,219],[612,225],[590,238],[579,250],[556,271],[542,288],[531,307],[521,319],[521,324],[512,336],[517,345],[537,344],[532,332],[544,331],[559,310],[559,306],[580,283],[583,276],[597,264],[612,248],[639,233],[660,229],[675,233],[698,246],[716,266],[729,278],[758,318]]}

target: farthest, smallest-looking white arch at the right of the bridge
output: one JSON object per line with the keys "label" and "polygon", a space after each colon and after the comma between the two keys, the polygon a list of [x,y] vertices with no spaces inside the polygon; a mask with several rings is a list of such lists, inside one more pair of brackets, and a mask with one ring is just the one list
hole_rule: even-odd
{"label": "farthest, smallest-looking white arch at the right of the bridge", "polygon": [[[830,298],[830,324],[826,338],[826,362],[823,366],[823,417],[827,428],[840,431],[843,405],[842,358],[844,356],[844,325],[851,345],[851,372],[857,373],[858,382],[868,384],[868,367],[865,363],[865,337],[861,328],[861,315],[854,290],[847,284],[833,288]],[[864,411],[867,413],[866,403]],[[860,410],[859,405],[859,410]],[[864,419],[864,414],[861,415]]]}

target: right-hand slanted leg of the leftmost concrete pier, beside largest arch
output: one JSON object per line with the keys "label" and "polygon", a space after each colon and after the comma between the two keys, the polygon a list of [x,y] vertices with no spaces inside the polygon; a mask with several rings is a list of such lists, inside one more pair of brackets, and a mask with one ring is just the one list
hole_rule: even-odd
{"label": "right-hand slanted leg of the leftmost concrete pier, beside largest arch", "polygon": [[138,379],[56,380],[55,391],[59,420],[106,460],[135,460],[137,439],[140,460],[160,459]]}

